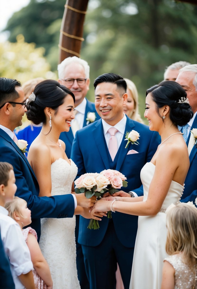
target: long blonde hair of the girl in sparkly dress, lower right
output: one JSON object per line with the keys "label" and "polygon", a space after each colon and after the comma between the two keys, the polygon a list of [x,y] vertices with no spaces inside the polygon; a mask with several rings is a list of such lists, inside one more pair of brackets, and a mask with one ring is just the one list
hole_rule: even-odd
{"label": "long blonde hair of the girl in sparkly dress, lower right", "polygon": [[183,253],[183,261],[192,268],[197,264],[197,208],[179,203],[166,217],[166,252],[169,255]]}

